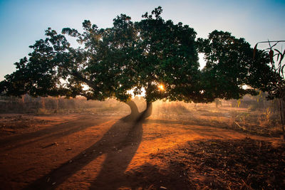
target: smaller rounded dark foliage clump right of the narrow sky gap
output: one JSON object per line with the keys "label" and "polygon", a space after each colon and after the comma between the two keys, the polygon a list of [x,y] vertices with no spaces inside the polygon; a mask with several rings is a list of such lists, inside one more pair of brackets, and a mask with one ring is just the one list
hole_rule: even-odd
{"label": "smaller rounded dark foliage clump right of the narrow sky gap", "polygon": [[269,67],[269,56],[257,51],[253,59],[253,48],[244,38],[212,31],[208,38],[198,38],[197,46],[206,60],[202,83],[207,99],[229,100],[246,94],[257,95],[257,89],[269,91],[276,80]]}

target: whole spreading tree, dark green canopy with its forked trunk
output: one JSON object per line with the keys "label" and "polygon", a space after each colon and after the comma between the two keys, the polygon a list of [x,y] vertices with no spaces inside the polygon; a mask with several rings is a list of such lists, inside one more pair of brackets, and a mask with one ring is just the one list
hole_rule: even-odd
{"label": "whole spreading tree, dark green canopy with its forked trunk", "polygon": [[[58,34],[48,28],[46,39],[30,46],[33,52],[29,58],[15,63],[16,71],[6,75],[0,90],[16,96],[115,97],[130,105],[137,116],[129,90],[139,95],[145,88],[144,117],[151,114],[152,102],[164,98],[212,102],[217,97],[254,93],[242,85],[262,80],[257,70],[259,65],[264,67],[262,71],[267,69],[263,54],[257,53],[256,60],[249,58],[249,44],[224,32],[214,31],[209,39],[195,41],[193,28],[165,21],[161,14],[161,7],[157,7],[135,23],[121,14],[113,20],[113,27],[100,29],[84,21],[83,33],[63,28]],[[71,47],[66,35],[76,38],[80,46]],[[207,60],[202,72],[197,48]],[[88,90],[83,90],[83,85],[88,85]]]}

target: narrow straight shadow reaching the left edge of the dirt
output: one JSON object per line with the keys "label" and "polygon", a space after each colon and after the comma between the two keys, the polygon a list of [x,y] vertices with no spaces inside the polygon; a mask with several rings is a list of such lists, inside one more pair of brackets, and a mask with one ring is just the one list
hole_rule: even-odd
{"label": "narrow straight shadow reaching the left edge of the dirt", "polygon": [[[83,122],[84,121],[84,122]],[[68,134],[72,134],[81,130],[85,130],[88,127],[99,125],[101,120],[92,120],[86,122],[86,120],[70,120],[68,122],[54,125],[53,127],[46,128],[44,130],[38,130],[36,132],[28,132],[26,134],[19,134],[13,137],[6,137],[0,140],[2,150],[11,150],[19,147],[23,147],[26,144],[38,142],[43,139],[51,139],[51,137],[63,137]],[[72,126],[71,126],[72,125]]]}

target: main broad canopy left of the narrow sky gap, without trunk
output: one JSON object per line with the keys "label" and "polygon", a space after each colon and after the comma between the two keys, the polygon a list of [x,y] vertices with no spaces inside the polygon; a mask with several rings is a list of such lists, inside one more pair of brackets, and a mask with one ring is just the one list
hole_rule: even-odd
{"label": "main broad canopy left of the narrow sky gap, without trunk", "polygon": [[[127,101],[145,88],[145,99],[196,100],[199,97],[199,63],[193,28],[164,21],[158,7],[133,23],[120,15],[112,28],[83,22],[83,33],[63,28],[62,34],[48,28],[47,38],[36,41],[29,58],[16,63],[6,75],[1,91],[6,95],[83,95],[104,100]],[[66,36],[81,44],[72,48]],[[163,84],[162,92],[157,85]],[[83,84],[88,90],[83,90]]]}

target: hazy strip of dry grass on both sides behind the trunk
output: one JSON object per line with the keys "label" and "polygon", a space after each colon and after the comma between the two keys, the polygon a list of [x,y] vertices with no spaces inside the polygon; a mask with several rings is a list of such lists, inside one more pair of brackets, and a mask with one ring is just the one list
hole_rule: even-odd
{"label": "hazy strip of dry grass on both sides behind the trunk", "polygon": [[[157,101],[153,104],[153,119],[175,120],[191,125],[222,127],[242,130],[252,134],[279,137],[281,125],[278,107],[273,101],[257,101],[256,97],[246,97],[241,105],[237,100],[219,101],[210,104]],[[246,101],[247,100],[247,101]],[[136,97],[140,111],[145,102]],[[21,99],[1,97],[0,113],[28,113],[33,115],[58,115],[87,113],[92,115],[128,115],[130,112],[123,102],[110,99],[104,102],[86,100],[83,97],[65,99],[63,97],[24,96]]]}

